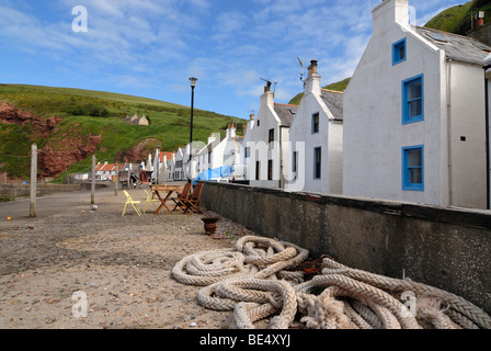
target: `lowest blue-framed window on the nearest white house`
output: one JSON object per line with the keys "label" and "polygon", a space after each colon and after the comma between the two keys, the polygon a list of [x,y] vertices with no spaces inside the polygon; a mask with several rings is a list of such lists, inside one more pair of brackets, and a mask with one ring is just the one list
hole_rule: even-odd
{"label": "lowest blue-framed window on the nearest white house", "polygon": [[424,191],[424,147],[402,148],[402,190]]}

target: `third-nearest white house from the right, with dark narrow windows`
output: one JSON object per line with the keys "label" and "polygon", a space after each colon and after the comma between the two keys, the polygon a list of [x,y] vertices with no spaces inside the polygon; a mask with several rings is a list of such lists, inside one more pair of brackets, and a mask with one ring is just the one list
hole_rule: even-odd
{"label": "third-nearest white house from the right, with dark narrow windows", "polygon": [[289,170],[289,126],[297,105],[274,103],[271,82],[261,95],[254,128],[246,147],[250,150],[248,178],[252,186],[285,189]]}

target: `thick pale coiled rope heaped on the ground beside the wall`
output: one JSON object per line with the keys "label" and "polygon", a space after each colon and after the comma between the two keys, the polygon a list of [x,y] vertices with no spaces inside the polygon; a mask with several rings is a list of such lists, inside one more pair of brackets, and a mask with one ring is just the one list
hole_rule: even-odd
{"label": "thick pale coiled rope heaped on the ground beside the wall", "polygon": [[321,274],[305,282],[295,268],[308,256],[289,242],[247,236],[235,249],[183,258],[172,276],[203,286],[198,304],[233,312],[230,328],[237,329],[252,329],[266,318],[271,329],[491,329],[489,315],[455,294],[329,258],[322,260]]}

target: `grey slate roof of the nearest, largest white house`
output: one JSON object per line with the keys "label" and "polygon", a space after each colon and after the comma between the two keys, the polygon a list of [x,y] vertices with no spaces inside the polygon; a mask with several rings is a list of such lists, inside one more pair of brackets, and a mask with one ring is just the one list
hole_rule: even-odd
{"label": "grey slate roof of the nearest, largest white house", "polygon": [[437,30],[415,26],[416,33],[445,52],[448,58],[457,61],[483,65],[491,47],[478,39]]}

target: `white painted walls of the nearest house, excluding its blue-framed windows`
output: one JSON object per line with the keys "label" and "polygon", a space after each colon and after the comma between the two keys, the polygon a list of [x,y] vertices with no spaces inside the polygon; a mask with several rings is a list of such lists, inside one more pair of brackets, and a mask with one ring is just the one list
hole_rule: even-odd
{"label": "white painted walls of the nearest house, excluding its blue-framed windows", "polygon": [[[407,7],[388,0],[374,9],[373,36],[344,93],[344,194],[482,207],[482,148],[475,144],[483,143],[482,68],[480,83],[475,67],[455,63],[450,73],[445,53],[409,27]],[[391,46],[403,37],[407,60],[392,66]],[[424,121],[403,125],[402,81],[418,75],[424,75]],[[460,145],[460,133],[472,141]],[[415,145],[424,145],[424,192],[402,190],[401,148]]]}

